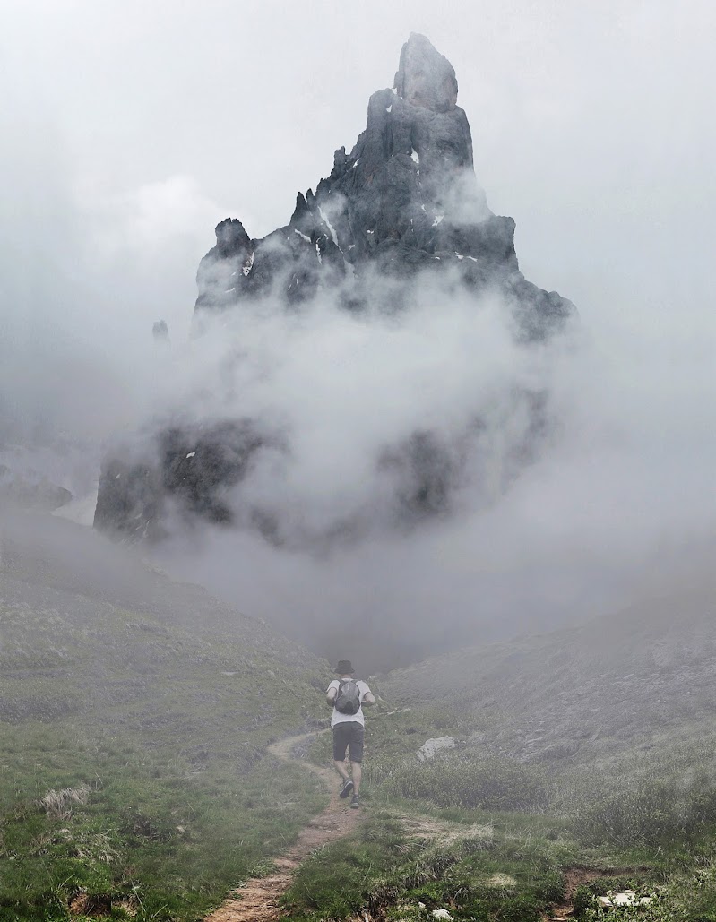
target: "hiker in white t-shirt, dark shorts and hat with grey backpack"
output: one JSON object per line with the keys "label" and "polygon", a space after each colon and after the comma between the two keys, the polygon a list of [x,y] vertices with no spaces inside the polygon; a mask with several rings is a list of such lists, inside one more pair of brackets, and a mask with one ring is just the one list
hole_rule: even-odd
{"label": "hiker in white t-shirt, dark shorts and hat with grey backpack", "polygon": [[[340,774],[340,797],[347,798],[353,792],[351,806],[361,805],[361,776],[363,770],[364,717],[363,705],[375,704],[373,692],[364,681],[353,679],[351,661],[341,659],[336,668],[338,679],[334,679],[326,690],[326,699],[333,706],[330,726],[333,728],[333,762]],[[352,777],[346,768],[346,748],[349,750]]]}

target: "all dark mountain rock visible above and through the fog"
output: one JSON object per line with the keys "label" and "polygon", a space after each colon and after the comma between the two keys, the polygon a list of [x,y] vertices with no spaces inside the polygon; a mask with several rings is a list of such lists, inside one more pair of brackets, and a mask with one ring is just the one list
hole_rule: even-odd
{"label": "all dark mountain rock visible above and through the fog", "polygon": [[[515,222],[487,207],[457,97],[452,65],[413,33],[400,53],[394,88],[373,94],[363,134],[350,153],[336,151],[333,169],[315,193],[296,196],[287,225],[261,240],[252,240],[238,219],[217,225],[216,245],[197,272],[199,325],[217,313],[251,311],[261,301],[300,310],[316,297],[337,311],[370,306],[397,312],[412,305],[427,281],[448,297],[474,298],[476,310],[480,296],[496,290],[519,342],[540,342],[558,332],[573,305],[519,272]],[[536,441],[546,418],[543,395],[519,400]],[[394,483],[388,516],[394,524],[412,526],[450,513],[480,425],[475,420],[456,444],[429,430],[414,431],[375,458],[377,476]],[[256,420],[172,421],[157,428],[149,461],[105,463],[97,527],[129,538],[160,537],[171,507],[189,518],[251,526],[281,542],[275,515],[242,505],[240,488],[262,449],[290,455],[284,439]],[[527,463],[532,451],[533,443],[520,444],[519,458],[507,459],[510,471]],[[333,538],[350,537],[356,527],[340,520]]]}

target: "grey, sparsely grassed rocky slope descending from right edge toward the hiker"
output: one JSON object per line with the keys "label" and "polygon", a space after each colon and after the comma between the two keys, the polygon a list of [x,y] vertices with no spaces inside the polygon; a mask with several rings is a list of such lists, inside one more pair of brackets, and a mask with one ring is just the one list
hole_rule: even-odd
{"label": "grey, sparsely grassed rocky slope descending from right edge toward the hiker", "polygon": [[436,656],[382,682],[396,706],[455,709],[464,739],[523,761],[593,762],[716,735],[708,568],[612,616]]}

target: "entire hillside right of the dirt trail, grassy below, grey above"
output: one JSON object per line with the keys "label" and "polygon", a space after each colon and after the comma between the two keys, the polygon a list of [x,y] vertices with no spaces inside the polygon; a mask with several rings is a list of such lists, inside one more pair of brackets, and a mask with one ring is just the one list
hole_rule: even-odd
{"label": "entire hillside right of the dirt trail, grassy below, grey above", "polygon": [[[595,894],[631,887],[652,901],[627,916],[716,919],[713,599],[704,578],[372,682],[384,703],[366,735],[371,822],[306,863],[292,918],[536,922],[587,868],[581,918],[603,917]],[[410,710],[388,713],[398,706]],[[443,735],[456,749],[418,762]],[[312,754],[326,758],[326,741]]]}

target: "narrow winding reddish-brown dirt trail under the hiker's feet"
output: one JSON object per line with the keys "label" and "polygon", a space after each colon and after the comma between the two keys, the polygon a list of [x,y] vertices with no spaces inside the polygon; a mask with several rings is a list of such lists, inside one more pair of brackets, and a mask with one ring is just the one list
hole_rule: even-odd
{"label": "narrow winding reddish-brown dirt trail under the hiker's feet", "polygon": [[[268,747],[268,751],[283,762],[290,762],[294,750],[308,739],[326,733],[317,730],[298,737],[281,739]],[[274,859],[276,871],[268,877],[255,877],[233,892],[232,896],[215,909],[204,922],[269,922],[281,915],[279,900],[288,890],[293,872],[320,845],[326,845],[350,833],[362,819],[362,810],[352,810],[350,800],[338,796],[338,775],[328,768],[319,768],[304,762],[304,768],[317,774],[331,792],[326,810],[318,814],[299,834],[292,847]]]}

